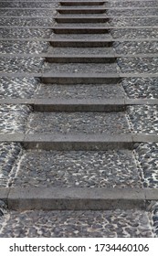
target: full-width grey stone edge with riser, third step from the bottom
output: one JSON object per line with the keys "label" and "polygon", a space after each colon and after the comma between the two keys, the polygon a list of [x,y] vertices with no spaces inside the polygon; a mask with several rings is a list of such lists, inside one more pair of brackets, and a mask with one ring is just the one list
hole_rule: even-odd
{"label": "full-width grey stone edge with riser, third step from the bottom", "polygon": [[158,99],[0,99],[0,104],[24,104],[35,112],[120,112],[132,105],[158,105]]}

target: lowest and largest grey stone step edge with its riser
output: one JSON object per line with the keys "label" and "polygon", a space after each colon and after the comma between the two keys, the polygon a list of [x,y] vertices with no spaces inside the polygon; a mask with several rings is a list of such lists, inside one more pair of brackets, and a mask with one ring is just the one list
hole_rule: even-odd
{"label": "lowest and largest grey stone step edge with its riser", "polygon": [[149,210],[158,200],[158,189],[84,187],[0,188],[0,199],[9,210]]}

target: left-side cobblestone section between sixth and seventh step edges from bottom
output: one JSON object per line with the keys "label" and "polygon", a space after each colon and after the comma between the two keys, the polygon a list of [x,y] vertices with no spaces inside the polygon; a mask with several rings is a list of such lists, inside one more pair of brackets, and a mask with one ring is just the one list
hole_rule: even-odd
{"label": "left-side cobblestone section between sixth and seventh step edges from bottom", "polygon": [[3,38],[47,38],[52,34],[51,29],[43,28],[0,28],[0,37]]}

